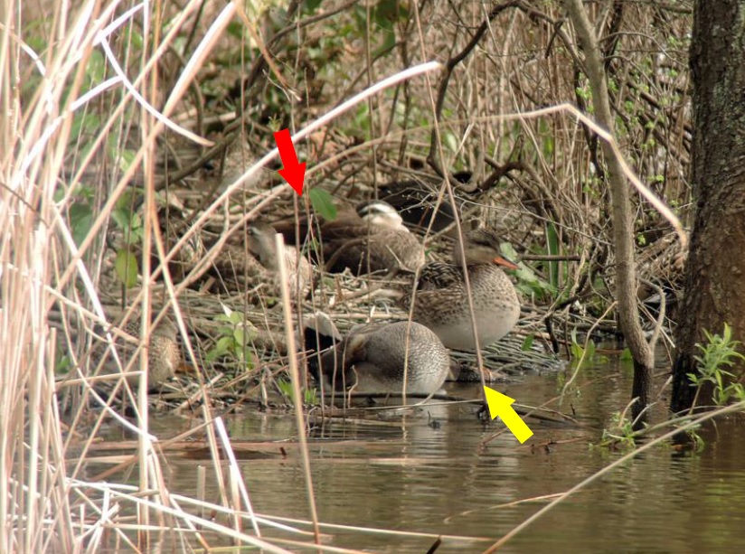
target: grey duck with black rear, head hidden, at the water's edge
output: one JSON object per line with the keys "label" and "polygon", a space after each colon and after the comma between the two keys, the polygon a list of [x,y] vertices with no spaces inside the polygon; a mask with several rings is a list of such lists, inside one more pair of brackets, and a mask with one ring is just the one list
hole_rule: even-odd
{"label": "grey duck with black rear, head hidden, at the water's edge", "polygon": [[362,324],[353,327],[309,368],[329,392],[401,394],[406,373],[406,394],[429,396],[448,377],[450,356],[438,336],[422,324]]}

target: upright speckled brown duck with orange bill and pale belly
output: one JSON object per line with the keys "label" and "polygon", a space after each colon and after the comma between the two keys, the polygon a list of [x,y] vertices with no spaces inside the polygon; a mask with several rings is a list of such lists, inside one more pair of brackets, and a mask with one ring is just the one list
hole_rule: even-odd
{"label": "upright speckled brown duck with orange bill and pale belly", "polygon": [[[465,258],[478,344],[497,342],[520,318],[517,291],[500,268],[517,269],[517,265],[502,256],[499,236],[486,228],[464,233],[462,249],[456,240],[452,258],[452,263],[432,261],[421,269],[412,319],[431,329],[447,348],[476,349],[463,275]],[[410,310],[411,296],[400,296],[401,307]]]}

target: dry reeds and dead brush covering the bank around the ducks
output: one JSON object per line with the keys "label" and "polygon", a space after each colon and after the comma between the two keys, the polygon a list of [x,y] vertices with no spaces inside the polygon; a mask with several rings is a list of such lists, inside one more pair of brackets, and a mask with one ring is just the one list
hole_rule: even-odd
{"label": "dry reeds and dead brush covering the bank around the ducks", "polygon": [[[211,530],[284,551],[249,531],[250,515],[241,524],[232,516],[197,521],[184,499],[175,501],[148,432],[146,395],[133,391],[135,418],[124,418],[116,403],[97,398],[81,361],[95,324],[140,318],[142,345],[151,312],[173,317],[185,374],[158,408],[204,418],[214,478],[225,492],[222,506],[211,509],[250,514],[237,471],[223,480],[219,460],[235,465],[217,416],[227,399],[235,408],[289,398],[277,383],[294,359],[288,338],[295,330],[285,324],[277,291],[259,286],[247,294],[231,284],[231,277],[247,283],[239,278],[249,277],[245,269],[217,274],[213,267],[226,245],[244,244],[249,221],[329,210],[314,190],[329,192],[335,206],[354,205],[415,179],[429,192],[421,202],[448,205],[464,226],[477,221],[501,233],[523,259],[523,318],[511,341],[483,352],[486,367],[545,366],[552,361],[546,352],[564,353],[576,340],[572,330],[614,332],[606,163],[595,132],[561,108],[570,103],[592,116],[561,3],[311,5],[244,13],[239,5],[156,4],[145,18],[144,5],[90,0],[76,9],[54,5],[54,17],[42,18],[33,6],[17,14],[18,5],[5,2],[5,551],[95,548],[104,525],[113,525],[118,540],[144,545],[148,524],[193,533],[203,546]],[[599,2],[587,9],[601,39],[618,145],[649,191],[686,221],[690,8]],[[305,129],[354,94],[427,61],[442,66],[392,82],[297,143],[308,162],[301,198],[280,183],[278,156],[266,155],[275,146],[272,131]],[[665,335],[671,323],[658,310],[674,308],[684,252],[658,211],[638,196],[633,202],[645,285],[639,297],[659,298],[641,317]],[[443,235],[422,233],[429,256],[448,248]],[[304,243],[304,253],[315,246]],[[344,332],[361,321],[404,318],[381,294],[384,286],[382,277],[317,274],[310,296],[294,306],[295,320],[320,309]],[[51,312],[63,314],[66,327],[51,326]],[[524,352],[530,344],[542,350]],[[473,356],[457,357],[476,366]],[[303,356],[297,361],[302,367]],[[299,385],[307,386],[305,377]],[[80,480],[109,418],[136,433],[138,489],[153,493]],[[37,474],[39,467],[46,469]],[[143,509],[137,537],[118,528],[104,497],[124,512]],[[16,526],[22,517],[24,527]]]}

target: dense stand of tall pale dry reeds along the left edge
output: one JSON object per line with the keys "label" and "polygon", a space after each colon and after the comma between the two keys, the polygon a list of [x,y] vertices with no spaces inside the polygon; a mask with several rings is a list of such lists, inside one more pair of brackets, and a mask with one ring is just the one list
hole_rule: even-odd
{"label": "dense stand of tall pale dry reeds along the left edge", "polygon": [[[151,273],[151,250],[162,259],[168,254],[153,217],[156,137],[167,126],[207,144],[167,117],[193,80],[203,56],[210,52],[214,38],[230,21],[233,7],[228,5],[222,14],[215,15],[165,102],[158,91],[156,61],[182,31],[198,2],[185,5],[162,37],[151,29],[150,25],[158,22],[151,19],[152,14],[142,13],[144,5],[124,10],[119,3],[97,0],[79,6],[46,3],[35,13],[32,6],[27,7],[22,13],[18,3],[5,1],[0,29],[4,112],[0,118],[4,146],[0,188],[4,230],[0,238],[0,549],[74,552],[111,544],[147,549],[156,539],[154,531],[188,532],[200,540],[199,526],[222,532],[237,543],[283,552],[260,539],[248,493],[235,458],[230,456],[230,442],[208,403],[203,417],[210,422],[206,427],[213,452],[218,452],[220,443],[220,451],[229,455],[231,478],[225,487],[241,492],[233,497],[223,494],[234,513],[234,525],[225,527],[196,518],[181,509],[168,492],[158,439],[150,434],[147,418],[147,356],[142,344],[147,342],[150,326],[149,279],[144,280],[133,302],[141,309],[143,324],[134,422],[123,418],[92,389],[88,364],[79,357],[86,348],[81,339],[86,333],[81,329],[106,323],[99,298],[100,260],[108,221],[136,174],[145,191],[147,214],[143,274]],[[154,13],[162,8],[156,4]],[[34,14],[36,25],[29,23]],[[43,24],[44,15],[53,23]],[[25,34],[33,28],[48,34]],[[144,55],[139,61],[129,57],[133,41],[142,41]],[[38,57],[29,42],[36,48],[41,46]],[[104,60],[106,70],[97,73]],[[163,108],[155,108],[159,105]],[[133,118],[139,121],[137,127],[131,126]],[[107,160],[115,165],[108,166]],[[90,202],[87,212],[79,210],[84,189]],[[88,217],[83,217],[86,214]],[[75,229],[76,224],[82,229]],[[173,304],[174,285],[167,270],[165,282],[165,305]],[[59,329],[49,324],[52,306],[63,315]],[[174,312],[178,316],[177,308]],[[178,318],[183,330],[183,320]],[[75,323],[81,325],[77,343],[58,340],[58,333],[74,333],[71,326]],[[70,348],[59,352],[58,345]],[[71,378],[65,381],[55,374],[63,358]],[[118,386],[128,388],[129,384],[120,379]],[[77,395],[65,405],[68,413],[62,414],[58,400],[66,390],[76,390]],[[88,406],[98,414],[93,421],[84,419]],[[94,484],[80,477],[90,441],[104,418],[114,418],[137,435],[137,456],[130,459],[137,461],[139,468],[135,487],[106,481]],[[77,462],[71,461],[73,453]],[[220,480],[219,456],[213,471]],[[242,507],[248,510],[253,525],[251,535],[240,531]],[[137,514],[134,526],[129,523],[130,513]]]}

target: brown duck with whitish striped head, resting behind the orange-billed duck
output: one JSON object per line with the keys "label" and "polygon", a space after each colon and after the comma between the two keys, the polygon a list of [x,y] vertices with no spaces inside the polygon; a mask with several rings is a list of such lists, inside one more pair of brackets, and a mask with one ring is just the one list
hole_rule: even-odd
{"label": "brown duck with whitish striped head, resting behind the orange-billed duck", "polygon": [[[307,221],[300,221],[306,237]],[[401,215],[386,202],[362,202],[355,210],[344,207],[333,221],[319,224],[325,270],[349,268],[360,276],[374,272],[415,272],[424,265],[424,247],[403,225]],[[285,221],[281,232],[295,240],[295,222]]]}

